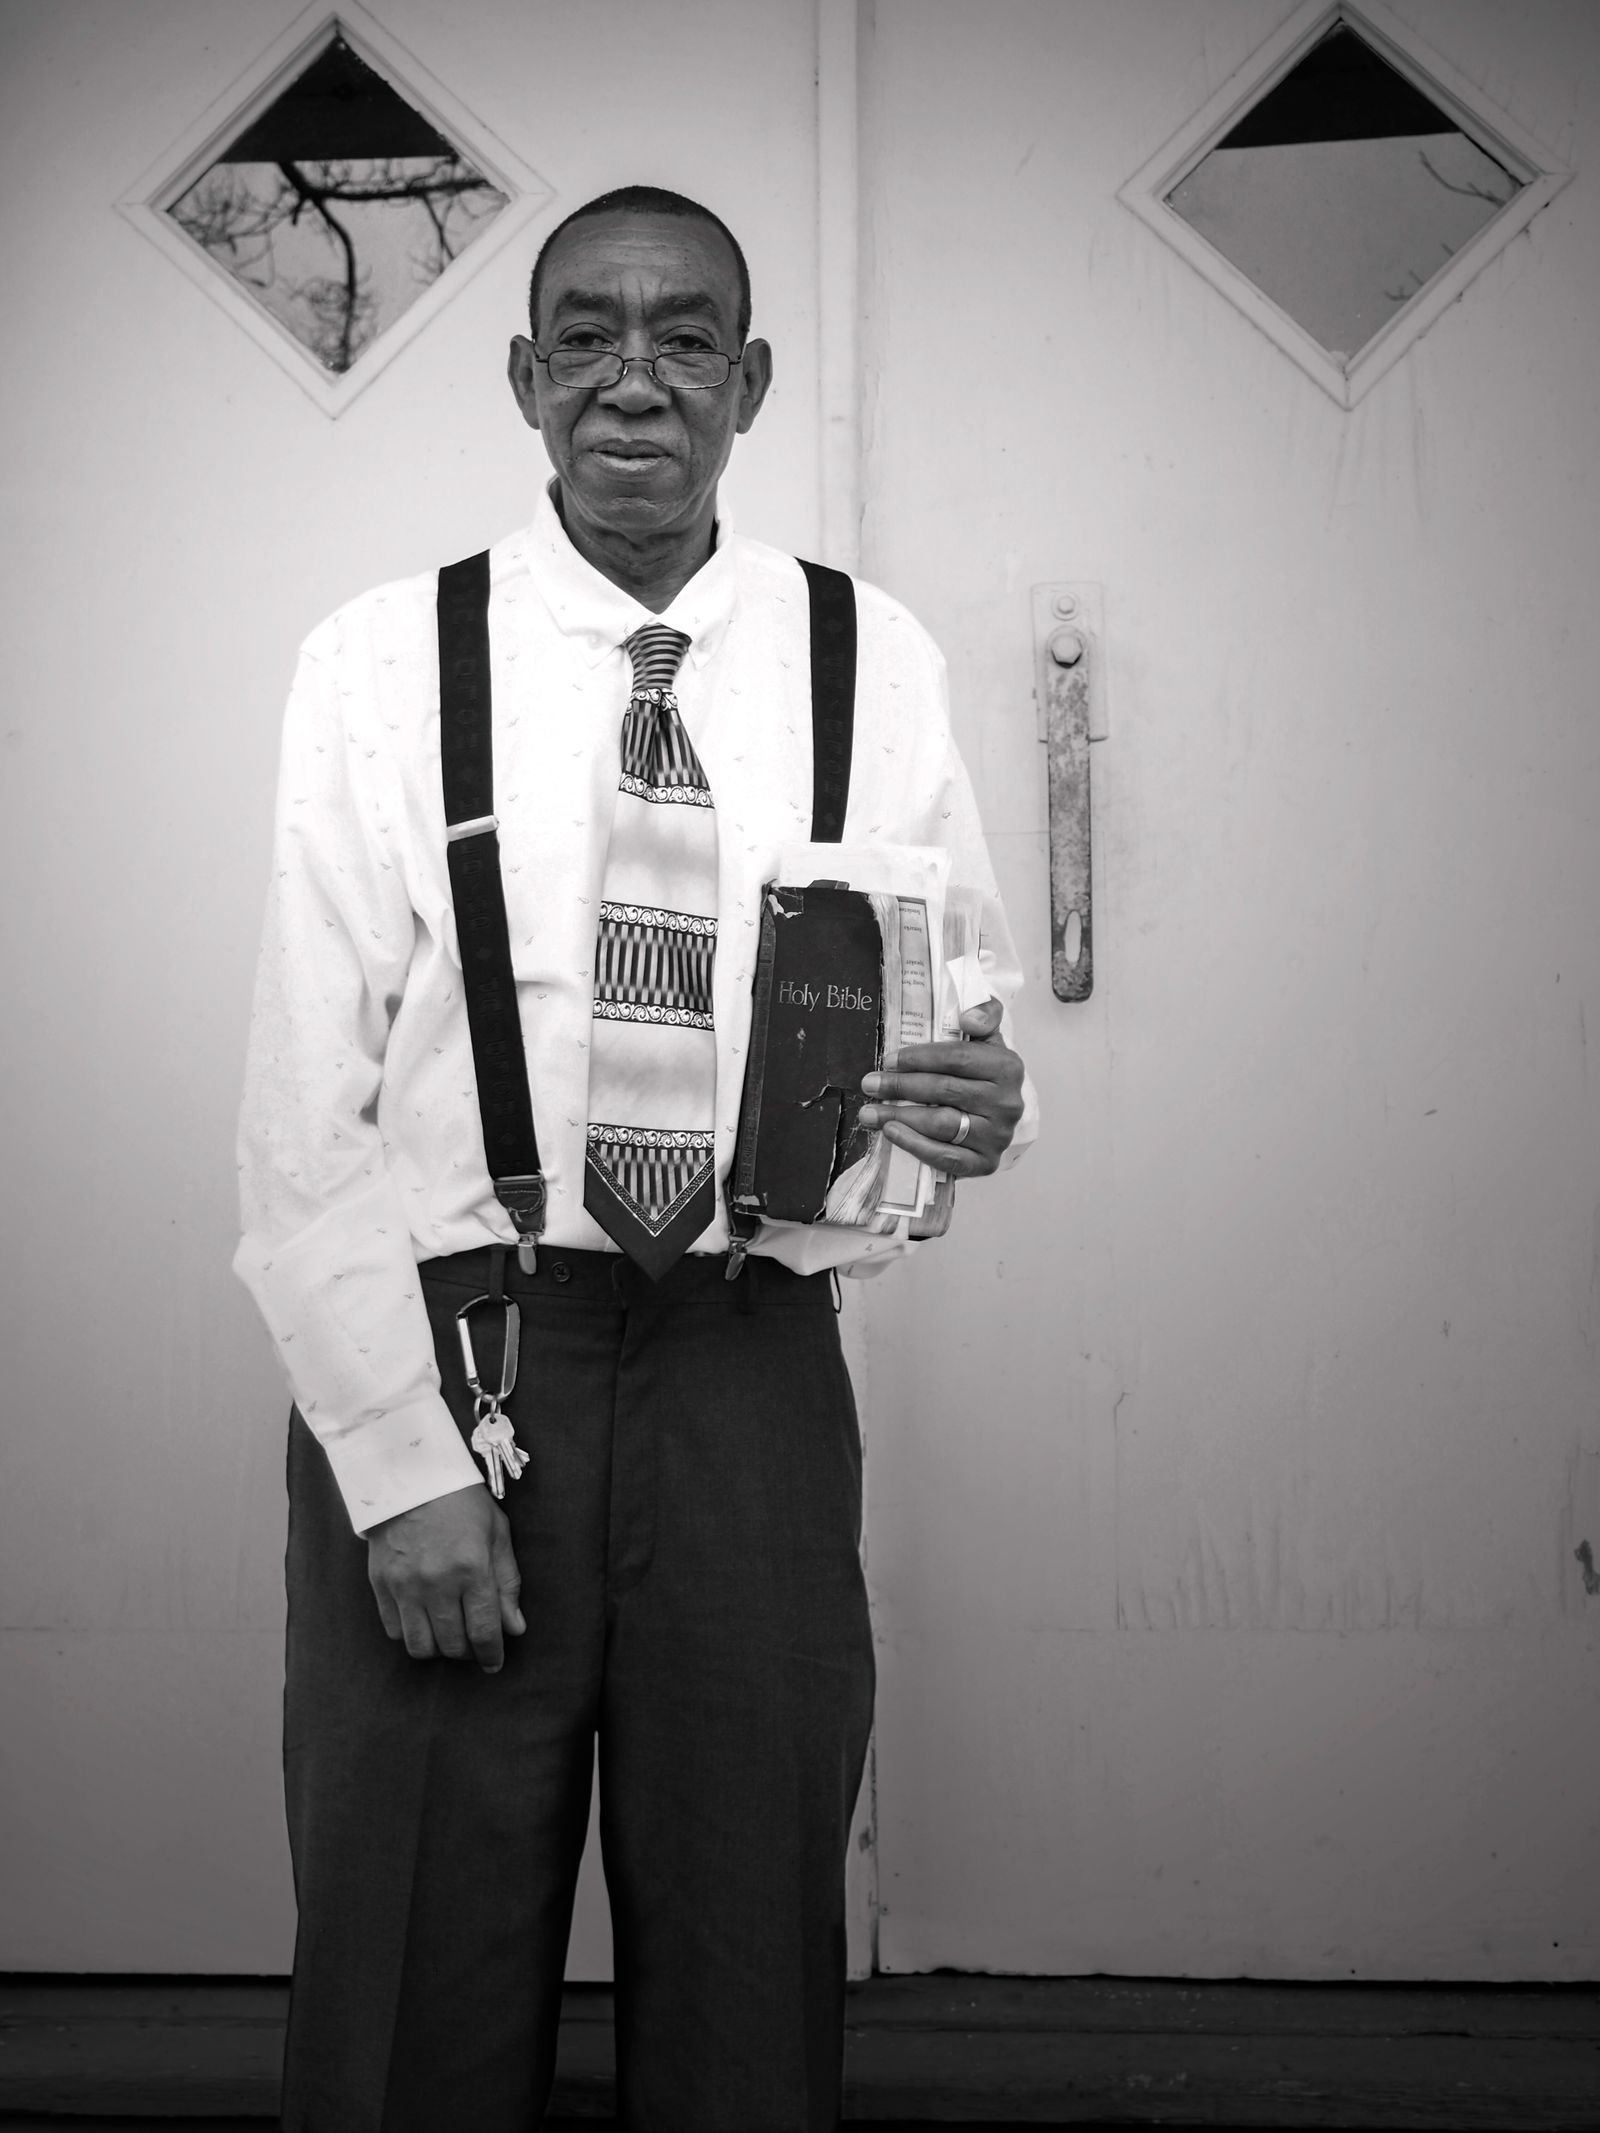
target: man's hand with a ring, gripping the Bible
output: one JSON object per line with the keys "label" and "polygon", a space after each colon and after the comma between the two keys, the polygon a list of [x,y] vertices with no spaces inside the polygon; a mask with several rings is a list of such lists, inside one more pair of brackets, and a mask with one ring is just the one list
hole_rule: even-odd
{"label": "man's hand with a ring, gripping the Bible", "polygon": [[[881,1126],[951,1177],[998,1169],[1022,1118],[1022,1060],[1001,1041],[1001,1003],[962,1015],[962,1039],[905,1045],[894,1066],[862,1081],[862,1124]],[[971,1124],[962,1133],[962,1120]],[[958,1141],[960,1135],[960,1141]]]}

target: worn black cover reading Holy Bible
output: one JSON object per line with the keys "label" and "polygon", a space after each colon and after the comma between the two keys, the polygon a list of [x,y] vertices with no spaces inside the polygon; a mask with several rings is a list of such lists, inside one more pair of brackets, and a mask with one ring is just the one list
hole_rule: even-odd
{"label": "worn black cover reading Holy Bible", "polygon": [[862,889],[768,885],[732,1203],[817,1222],[828,1186],[873,1139],[862,1075],[883,1058],[883,941]]}

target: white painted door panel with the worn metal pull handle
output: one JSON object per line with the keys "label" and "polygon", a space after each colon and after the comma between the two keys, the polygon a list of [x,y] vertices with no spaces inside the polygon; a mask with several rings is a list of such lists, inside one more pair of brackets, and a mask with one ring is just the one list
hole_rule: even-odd
{"label": "white painted door panel with the worn metal pull handle", "polygon": [[870,1297],[885,1969],[1600,1956],[1600,17],[1402,6],[1577,177],[1346,410],[1118,203],[1289,15],[864,15],[864,570],[949,655],[1045,1120]]}

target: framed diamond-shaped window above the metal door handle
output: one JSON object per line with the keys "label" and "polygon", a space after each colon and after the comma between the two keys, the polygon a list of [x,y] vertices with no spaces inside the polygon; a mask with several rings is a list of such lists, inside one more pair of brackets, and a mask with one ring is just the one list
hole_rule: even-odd
{"label": "framed diamond-shaped window above the metal door handle", "polygon": [[1564,183],[1380,9],[1303,9],[1122,190],[1353,401]]}

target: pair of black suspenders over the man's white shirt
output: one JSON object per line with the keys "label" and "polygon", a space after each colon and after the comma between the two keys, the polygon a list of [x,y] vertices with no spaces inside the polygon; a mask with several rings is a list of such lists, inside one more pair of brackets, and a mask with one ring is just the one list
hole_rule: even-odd
{"label": "pair of black suspenders over the man's white shirt", "polygon": [[[836,845],[855,727],[855,587],[843,570],[800,570],[811,595],[811,838]],[[439,770],[484,1160],[495,1199],[516,1224],[516,1256],[531,1273],[544,1231],[544,1173],[499,877],[486,550],[439,572]]]}

